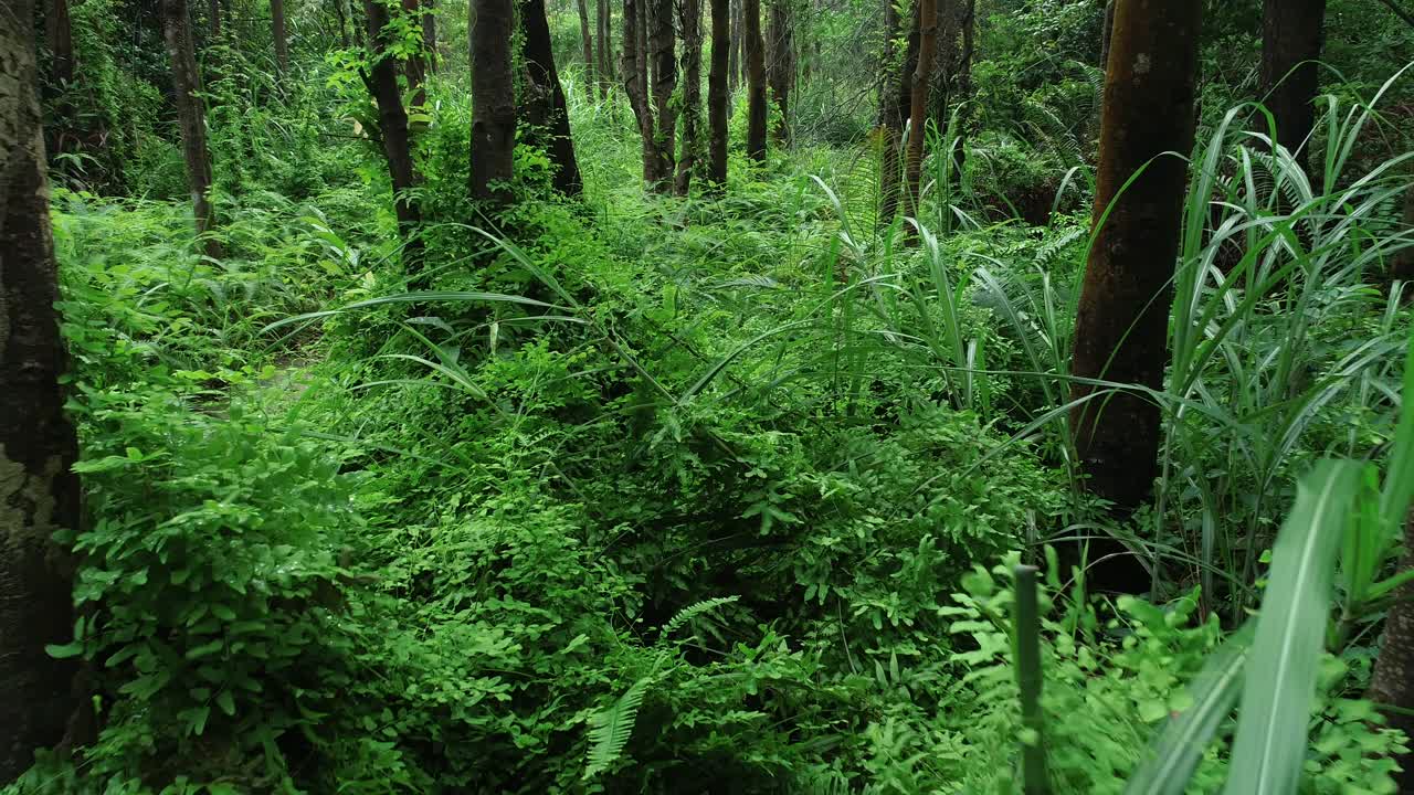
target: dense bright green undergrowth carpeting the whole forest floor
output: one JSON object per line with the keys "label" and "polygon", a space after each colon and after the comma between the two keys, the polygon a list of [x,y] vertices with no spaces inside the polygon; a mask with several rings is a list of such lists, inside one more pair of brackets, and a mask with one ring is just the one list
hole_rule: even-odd
{"label": "dense bright green undergrowth carpeting the whole forest floor", "polygon": [[[1051,567],[1045,709],[1056,788],[1121,792],[1256,605],[1295,478],[1393,433],[1401,161],[1345,163],[1359,106],[1331,110],[1319,187],[1251,116],[1209,124],[1159,506],[1111,526],[1065,441],[1080,154],[1046,163],[1032,226],[1000,199],[1038,167],[974,141],[904,249],[868,144],[645,197],[626,109],[566,83],[588,198],[544,198],[522,156],[499,233],[451,221],[468,109],[430,86],[424,293],[365,141],[307,185],[240,175],[221,262],[180,205],[58,191],[92,521],[52,651],[89,662],[103,731],[14,791],[1011,792],[1004,563],[1113,533],[1157,590]],[[1373,627],[1322,662],[1304,792],[1393,791],[1406,740],[1355,700]]]}

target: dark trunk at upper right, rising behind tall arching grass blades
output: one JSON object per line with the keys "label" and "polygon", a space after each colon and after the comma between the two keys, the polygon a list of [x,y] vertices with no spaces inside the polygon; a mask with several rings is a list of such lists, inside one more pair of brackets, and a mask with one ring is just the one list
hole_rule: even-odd
{"label": "dark trunk at upper right, rising behind tall arching grass blades", "polygon": [[[1302,171],[1309,160],[1305,143],[1316,122],[1325,0],[1266,0],[1261,13],[1263,103],[1277,122],[1277,143],[1297,157]],[[1299,151],[1298,151],[1299,149]]]}

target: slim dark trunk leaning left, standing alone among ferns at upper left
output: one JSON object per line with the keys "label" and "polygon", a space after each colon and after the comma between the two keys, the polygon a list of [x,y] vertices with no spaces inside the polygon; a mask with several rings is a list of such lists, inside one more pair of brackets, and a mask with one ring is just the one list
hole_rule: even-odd
{"label": "slim dark trunk leaning left, standing alone among ferns at upper left", "polygon": [[163,38],[173,65],[173,95],[177,100],[177,120],[181,124],[182,157],[187,161],[187,181],[191,184],[191,204],[197,214],[197,236],[204,238],[206,256],[219,257],[221,245],[211,232],[216,226],[216,209],[211,204],[211,151],[206,149],[206,106],[201,99],[201,74],[191,50],[191,23],[187,0],[163,0]]}

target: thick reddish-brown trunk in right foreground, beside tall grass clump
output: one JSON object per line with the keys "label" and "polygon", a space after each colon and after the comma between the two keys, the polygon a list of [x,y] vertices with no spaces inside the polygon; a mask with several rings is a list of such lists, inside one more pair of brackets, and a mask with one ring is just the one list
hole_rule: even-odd
{"label": "thick reddish-brown trunk in right foreground, beside tall grass clump", "polygon": [[[1116,1],[1094,195],[1096,236],[1070,362],[1076,378],[1150,389],[1164,385],[1186,167],[1179,157],[1159,154],[1186,156],[1193,146],[1202,7],[1202,0]],[[1117,195],[1141,167],[1144,173]],[[1086,383],[1070,388],[1073,399],[1093,392],[1096,388]],[[1144,396],[1118,392],[1075,407],[1070,420],[1080,465],[1089,475],[1086,487],[1120,513],[1148,501],[1159,407]],[[1135,581],[1141,579],[1141,567],[1128,556],[1116,560],[1109,573],[1092,571],[1100,590],[1143,591],[1147,580]]]}

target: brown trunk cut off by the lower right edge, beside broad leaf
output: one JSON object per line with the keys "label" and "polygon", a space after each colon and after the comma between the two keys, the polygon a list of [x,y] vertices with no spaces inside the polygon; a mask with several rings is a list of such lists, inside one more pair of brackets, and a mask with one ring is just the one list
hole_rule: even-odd
{"label": "brown trunk cut off by the lower right edge, beside broad leaf", "polygon": [[[1404,557],[1400,570],[1414,569],[1414,513],[1404,525]],[[1414,583],[1394,591],[1394,604],[1384,617],[1384,639],[1374,661],[1367,697],[1386,710],[1387,726],[1414,737]],[[1396,760],[1404,768],[1396,781],[1400,792],[1414,792],[1414,754]]]}

